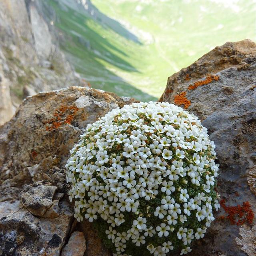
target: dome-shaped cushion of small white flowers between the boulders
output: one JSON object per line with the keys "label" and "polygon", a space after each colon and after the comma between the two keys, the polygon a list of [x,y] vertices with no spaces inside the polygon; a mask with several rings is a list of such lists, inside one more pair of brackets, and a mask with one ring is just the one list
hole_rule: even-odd
{"label": "dome-shaped cushion of small white flowers between the boulders", "polygon": [[114,255],[187,254],[220,207],[214,148],[200,120],[173,104],[116,108],[70,150],[74,217],[96,220]]}

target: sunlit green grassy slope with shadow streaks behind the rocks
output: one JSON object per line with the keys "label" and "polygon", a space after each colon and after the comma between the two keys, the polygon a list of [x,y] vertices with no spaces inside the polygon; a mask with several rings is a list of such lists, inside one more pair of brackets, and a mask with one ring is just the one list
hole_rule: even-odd
{"label": "sunlit green grassy slope with shadow streaks behind the rocks", "polygon": [[[144,101],[158,98],[168,76],[215,46],[256,40],[255,1],[92,0],[99,12],[119,22],[116,30],[48,1],[58,15],[56,26],[67,36],[64,50],[92,87]],[[124,36],[120,24],[139,42]]]}

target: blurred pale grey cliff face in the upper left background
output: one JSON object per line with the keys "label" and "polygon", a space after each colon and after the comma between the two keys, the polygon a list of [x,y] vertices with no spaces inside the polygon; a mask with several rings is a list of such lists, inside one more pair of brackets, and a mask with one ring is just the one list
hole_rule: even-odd
{"label": "blurred pale grey cliff face in the upper left background", "polygon": [[0,3],[0,125],[26,96],[67,84],[86,86],[59,49],[52,16],[43,1]]}

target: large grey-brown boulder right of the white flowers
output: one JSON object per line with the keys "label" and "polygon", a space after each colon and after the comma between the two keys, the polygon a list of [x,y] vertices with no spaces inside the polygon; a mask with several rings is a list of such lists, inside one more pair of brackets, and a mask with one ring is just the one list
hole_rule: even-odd
{"label": "large grey-brown boulder right of the white flowers", "polygon": [[[256,44],[243,40],[214,48],[170,76],[159,101],[176,102],[202,120],[216,144],[221,198],[226,206],[248,201],[256,214]],[[225,216],[221,208],[190,255],[256,255],[255,218],[237,226]]]}

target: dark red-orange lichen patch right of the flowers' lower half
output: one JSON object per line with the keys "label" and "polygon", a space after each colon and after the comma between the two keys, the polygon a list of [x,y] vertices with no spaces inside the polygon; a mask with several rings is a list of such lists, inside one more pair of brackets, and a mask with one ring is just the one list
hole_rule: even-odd
{"label": "dark red-orange lichen patch right of the flowers' lower half", "polygon": [[224,211],[228,214],[228,216],[220,216],[220,219],[223,219],[223,217],[227,218],[230,220],[232,225],[242,225],[246,221],[248,221],[249,224],[252,224],[254,213],[248,201],[243,202],[242,205],[238,204],[237,206],[226,206],[226,200],[222,199],[220,201],[220,206],[222,206]]}

